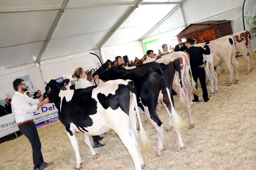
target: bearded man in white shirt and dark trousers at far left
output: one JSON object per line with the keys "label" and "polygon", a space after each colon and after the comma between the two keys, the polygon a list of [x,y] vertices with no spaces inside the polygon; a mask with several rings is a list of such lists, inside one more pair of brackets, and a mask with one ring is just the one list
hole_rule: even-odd
{"label": "bearded man in white shirt and dark trousers at far left", "polygon": [[[44,99],[43,96],[38,99],[28,97],[26,84],[22,79],[13,81],[15,94],[12,97],[12,113],[15,116],[16,123],[20,131],[28,138],[33,151],[34,170],[41,170],[49,167],[53,162],[46,163],[42,157],[41,142],[33,122],[33,112],[40,108],[45,103],[49,103],[49,98]],[[44,99],[44,100],[43,100]]]}

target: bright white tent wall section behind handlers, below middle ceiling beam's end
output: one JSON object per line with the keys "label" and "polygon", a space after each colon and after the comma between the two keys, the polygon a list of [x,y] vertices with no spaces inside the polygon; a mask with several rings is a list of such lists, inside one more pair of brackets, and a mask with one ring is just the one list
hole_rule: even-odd
{"label": "bright white tent wall section behind handlers, below middle ceiling beam's end", "polygon": [[128,42],[101,48],[101,56],[104,62],[108,59],[113,61],[116,56],[125,55],[128,56],[129,60],[134,60],[136,56],[139,59],[142,58],[144,52],[141,41]]}

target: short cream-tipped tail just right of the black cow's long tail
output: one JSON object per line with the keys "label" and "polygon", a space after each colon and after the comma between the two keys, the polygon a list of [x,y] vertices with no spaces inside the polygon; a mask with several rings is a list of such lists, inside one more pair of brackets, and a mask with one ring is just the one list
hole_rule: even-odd
{"label": "short cream-tipped tail just right of the black cow's long tail", "polygon": [[[179,99],[179,102],[185,107],[187,108],[187,103],[186,103],[186,100],[185,100],[185,96],[182,95],[182,92],[181,90],[183,90],[183,79],[181,77],[181,68],[180,68],[180,62],[179,60],[175,59],[173,60],[173,63],[174,63],[174,67],[175,67],[175,74],[176,74],[176,77],[178,79],[178,84],[179,84],[179,96],[180,96],[180,99]],[[184,94],[184,93],[183,93]]]}

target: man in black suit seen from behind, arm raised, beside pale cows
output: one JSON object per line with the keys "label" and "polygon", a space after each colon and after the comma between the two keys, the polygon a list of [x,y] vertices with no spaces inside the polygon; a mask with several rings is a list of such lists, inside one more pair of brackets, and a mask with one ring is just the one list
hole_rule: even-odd
{"label": "man in black suit seen from behind, arm raised, beside pale cows", "polygon": [[[195,47],[194,40],[191,38],[187,39],[187,47],[188,49],[185,52],[187,52],[190,55],[190,66],[191,66],[193,79],[197,83],[197,79],[199,78],[199,81],[203,90],[203,99],[205,102],[207,102],[209,98],[208,98],[208,92],[205,84],[206,82],[205,69],[200,68],[199,66],[204,64],[203,54],[209,55],[210,48],[208,47],[208,45],[204,46],[206,49],[203,49],[202,47]],[[198,102],[199,101],[198,96],[194,94],[194,100],[192,101]]]}

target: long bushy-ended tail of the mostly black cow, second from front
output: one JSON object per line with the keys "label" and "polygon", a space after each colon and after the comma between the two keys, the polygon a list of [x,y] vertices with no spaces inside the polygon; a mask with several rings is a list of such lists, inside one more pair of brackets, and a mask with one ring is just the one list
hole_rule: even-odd
{"label": "long bushy-ended tail of the mostly black cow, second from front", "polygon": [[168,88],[168,84],[167,84],[167,77],[166,74],[164,73],[163,69],[161,68],[161,66],[159,66],[159,71],[161,72],[162,76],[163,76],[163,80],[164,83],[166,85],[166,91],[171,103],[171,118],[172,118],[172,125],[174,126],[174,128],[176,130],[178,130],[179,132],[181,132],[182,129],[186,129],[186,125],[185,123],[182,121],[180,115],[175,111],[173,105],[172,105],[172,100],[171,100],[171,95],[170,95],[170,91]]}

